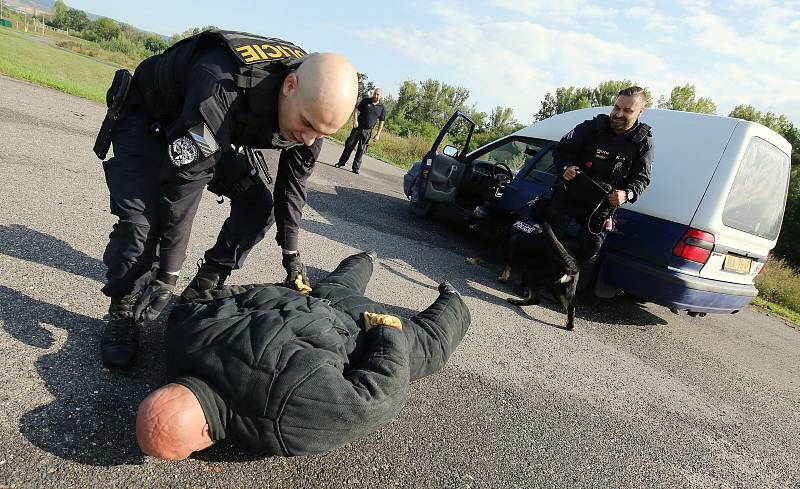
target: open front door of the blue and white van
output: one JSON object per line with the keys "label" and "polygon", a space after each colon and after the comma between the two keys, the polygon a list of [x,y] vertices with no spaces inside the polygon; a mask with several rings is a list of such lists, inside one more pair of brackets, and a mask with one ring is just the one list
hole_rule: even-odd
{"label": "open front door of the blue and white van", "polygon": [[[464,156],[474,130],[475,123],[461,111],[450,117],[430,151],[422,158],[419,178],[411,193],[412,210],[424,213],[432,203],[449,205],[455,200],[466,167]],[[458,147],[447,145],[440,151],[448,135],[450,141],[463,143]]]}

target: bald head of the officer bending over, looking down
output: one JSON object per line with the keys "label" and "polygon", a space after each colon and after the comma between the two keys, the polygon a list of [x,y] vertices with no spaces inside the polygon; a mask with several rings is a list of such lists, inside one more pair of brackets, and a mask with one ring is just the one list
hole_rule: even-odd
{"label": "bald head of the officer bending over, looking down", "polygon": [[289,141],[307,146],[347,122],[358,96],[358,78],[347,58],[312,53],[287,75],[278,98],[278,124]]}

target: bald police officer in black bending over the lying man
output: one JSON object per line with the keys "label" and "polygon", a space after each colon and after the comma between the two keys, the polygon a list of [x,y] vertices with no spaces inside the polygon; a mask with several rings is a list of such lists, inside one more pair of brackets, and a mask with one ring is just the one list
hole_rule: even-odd
{"label": "bald police officer in black bending over the lying man", "polygon": [[[286,284],[307,285],[297,251],[306,181],[321,137],[347,122],[357,90],[355,70],[341,55],[218,30],[144,60],[132,78],[117,72],[94,148],[105,159],[114,144],[103,167],[119,218],[103,255],[107,367],[133,364],[140,324],[170,301],[206,185],[228,197],[231,212],[183,299],[221,286],[273,223]],[[250,148],[281,151],[274,200],[263,157]]]}

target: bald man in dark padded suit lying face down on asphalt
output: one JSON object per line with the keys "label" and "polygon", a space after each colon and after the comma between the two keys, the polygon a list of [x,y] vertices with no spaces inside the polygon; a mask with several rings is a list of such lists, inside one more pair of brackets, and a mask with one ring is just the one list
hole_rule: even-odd
{"label": "bald man in dark padded suit lying face down on asphalt", "polygon": [[307,455],[389,423],[409,381],[444,367],[470,314],[444,282],[416,316],[389,315],[364,297],[375,257],[346,258],[310,295],[234,285],[176,307],[165,333],[170,383],[136,415],[142,451],[182,460],[229,439],[265,455]]}

